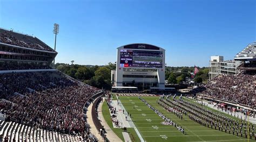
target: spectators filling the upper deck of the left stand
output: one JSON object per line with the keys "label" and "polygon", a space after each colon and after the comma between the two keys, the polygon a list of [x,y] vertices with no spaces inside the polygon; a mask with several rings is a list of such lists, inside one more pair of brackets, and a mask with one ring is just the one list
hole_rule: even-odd
{"label": "spectators filling the upper deck of the left stand", "polygon": [[[32,49],[39,49],[44,51],[52,51],[49,47],[39,43],[39,42],[33,42],[30,38],[30,36],[26,36],[25,34],[22,35],[22,39],[18,39],[15,36],[13,36],[12,31],[4,31],[3,33],[0,33],[0,42],[3,42],[5,44],[10,45],[16,45],[20,47],[26,47],[26,48],[32,48]],[[37,39],[33,39],[37,40]]]}

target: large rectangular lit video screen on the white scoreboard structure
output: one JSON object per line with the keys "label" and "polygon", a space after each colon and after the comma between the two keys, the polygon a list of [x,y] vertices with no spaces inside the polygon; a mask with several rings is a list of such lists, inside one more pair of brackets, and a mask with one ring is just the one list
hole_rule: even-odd
{"label": "large rectangular lit video screen on the white scoreboard structure", "polygon": [[120,67],[163,68],[163,52],[121,49]]}

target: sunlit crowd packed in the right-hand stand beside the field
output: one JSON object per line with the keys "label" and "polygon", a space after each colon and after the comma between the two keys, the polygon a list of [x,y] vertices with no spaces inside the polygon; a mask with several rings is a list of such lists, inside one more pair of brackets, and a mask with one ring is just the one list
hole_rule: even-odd
{"label": "sunlit crowd packed in the right-hand stand beside the field", "polygon": [[256,106],[255,74],[220,75],[199,89],[203,90],[203,94],[213,98],[248,105],[251,108]]}

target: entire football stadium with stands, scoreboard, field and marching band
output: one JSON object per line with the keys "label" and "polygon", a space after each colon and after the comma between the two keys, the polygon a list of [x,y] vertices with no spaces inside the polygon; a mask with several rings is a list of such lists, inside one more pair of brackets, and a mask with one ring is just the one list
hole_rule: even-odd
{"label": "entire football stadium with stands, scoreboard, field and marching band", "polygon": [[121,46],[111,92],[52,68],[57,52],[40,39],[0,29],[1,140],[255,141],[255,53],[253,42],[235,55],[235,72],[211,64],[219,74],[170,94],[165,49]]}

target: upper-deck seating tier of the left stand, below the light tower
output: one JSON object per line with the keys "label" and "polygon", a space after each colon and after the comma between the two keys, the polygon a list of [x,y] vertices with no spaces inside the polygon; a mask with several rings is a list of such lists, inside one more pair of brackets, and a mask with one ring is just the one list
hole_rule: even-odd
{"label": "upper-deck seating tier of the left stand, below the light tower", "polygon": [[53,51],[49,46],[44,44],[36,37],[31,37],[26,34],[16,33],[0,29],[0,42],[20,47],[38,49],[43,51]]}

